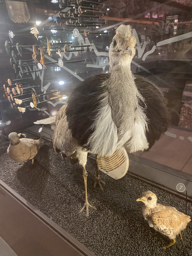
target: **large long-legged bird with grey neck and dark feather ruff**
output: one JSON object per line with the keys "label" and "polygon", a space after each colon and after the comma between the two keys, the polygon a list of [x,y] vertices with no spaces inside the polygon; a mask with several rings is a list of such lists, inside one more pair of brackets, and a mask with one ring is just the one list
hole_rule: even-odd
{"label": "large long-legged bird with grey neck and dark feather ruff", "polygon": [[[68,104],[55,118],[35,123],[54,123],[54,148],[63,157],[78,159],[83,166],[85,204],[87,199],[87,153],[97,158],[111,157],[123,147],[129,152],[149,150],[169,125],[169,114],[158,87],[148,79],[133,75],[131,60],[136,39],[131,26],[116,30],[109,50],[110,72],[92,76],[74,89]],[[121,150],[119,151],[119,155]],[[103,183],[97,168],[97,183]]]}

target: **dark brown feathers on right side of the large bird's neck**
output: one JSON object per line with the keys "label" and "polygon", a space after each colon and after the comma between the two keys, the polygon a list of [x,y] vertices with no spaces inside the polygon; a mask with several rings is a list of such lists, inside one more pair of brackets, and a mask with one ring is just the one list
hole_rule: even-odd
{"label": "dark brown feathers on right side of the large bird's neck", "polygon": [[145,104],[141,101],[139,104],[145,109],[144,112],[148,119],[148,131],[146,131],[149,143],[149,148],[146,151],[148,151],[167,131],[170,125],[170,114],[160,89],[145,77],[138,75],[134,75],[134,77],[137,89],[145,100]]}

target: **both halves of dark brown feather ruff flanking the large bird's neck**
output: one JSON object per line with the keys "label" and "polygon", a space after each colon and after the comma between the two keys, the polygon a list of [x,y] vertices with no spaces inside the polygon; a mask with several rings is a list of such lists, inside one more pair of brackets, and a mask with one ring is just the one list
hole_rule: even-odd
{"label": "both halves of dark brown feather ruff flanking the large bird's neck", "polygon": [[[86,79],[72,91],[69,97],[66,109],[67,121],[72,136],[78,140],[81,146],[87,143],[88,138],[94,132],[91,125],[99,109],[99,102],[107,90],[102,84],[109,76],[110,73],[107,73]],[[144,102],[141,99],[138,99],[138,102],[148,119],[146,137],[149,150],[168,129],[170,116],[164,96],[153,82],[138,75],[134,75],[134,81],[144,98]]]}

